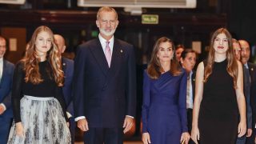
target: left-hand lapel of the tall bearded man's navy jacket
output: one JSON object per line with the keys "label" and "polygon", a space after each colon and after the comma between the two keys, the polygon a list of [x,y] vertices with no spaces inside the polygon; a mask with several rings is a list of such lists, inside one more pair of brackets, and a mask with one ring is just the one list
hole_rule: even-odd
{"label": "left-hand lapel of the tall bearded man's navy jacket", "polygon": [[94,55],[96,62],[101,67],[102,72],[106,75],[109,70],[109,66],[106,62],[106,57],[102,50],[101,42],[99,42],[98,38],[96,39],[95,45],[90,46],[90,50],[91,50],[92,54]]}

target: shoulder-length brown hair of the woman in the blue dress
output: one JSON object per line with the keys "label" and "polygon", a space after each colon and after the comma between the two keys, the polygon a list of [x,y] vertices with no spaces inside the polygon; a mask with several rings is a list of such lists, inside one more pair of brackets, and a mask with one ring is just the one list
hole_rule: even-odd
{"label": "shoulder-length brown hair of the woman in the blue dress", "polygon": [[174,51],[174,56],[170,61],[170,73],[173,74],[174,76],[177,76],[182,72],[181,66],[179,65],[178,61],[175,58],[174,42],[171,41],[169,38],[162,37],[162,38],[159,38],[158,41],[154,44],[151,60],[150,60],[149,66],[147,67],[147,73],[149,74],[150,78],[153,78],[153,79],[159,78],[160,74],[163,71],[160,60],[157,56],[159,46],[162,42],[170,42]]}

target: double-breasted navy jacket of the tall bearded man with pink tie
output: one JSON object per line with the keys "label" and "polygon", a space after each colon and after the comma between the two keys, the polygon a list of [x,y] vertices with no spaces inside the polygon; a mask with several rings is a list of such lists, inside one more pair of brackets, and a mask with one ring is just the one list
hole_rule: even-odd
{"label": "double-breasted navy jacket of the tall bearded man with pink tie", "polygon": [[110,68],[98,38],[78,46],[74,60],[74,115],[91,127],[122,127],[135,116],[136,64],[134,48],[114,39]]}

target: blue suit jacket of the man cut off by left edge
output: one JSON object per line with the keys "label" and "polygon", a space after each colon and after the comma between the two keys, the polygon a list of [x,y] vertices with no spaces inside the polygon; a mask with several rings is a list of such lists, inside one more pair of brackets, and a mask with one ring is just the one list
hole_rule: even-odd
{"label": "blue suit jacket of the man cut off by left edge", "polygon": [[11,109],[11,87],[13,82],[14,64],[3,60],[2,80],[0,82],[0,103],[6,106],[6,111],[0,118],[13,118]]}

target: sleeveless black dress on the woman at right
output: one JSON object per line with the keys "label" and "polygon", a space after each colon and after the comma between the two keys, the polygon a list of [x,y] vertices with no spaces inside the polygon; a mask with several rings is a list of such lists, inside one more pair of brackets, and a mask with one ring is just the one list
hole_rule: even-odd
{"label": "sleeveless black dress on the woman at right", "polygon": [[214,62],[204,84],[198,116],[201,144],[234,144],[238,134],[238,102],[226,66],[227,60]]}

